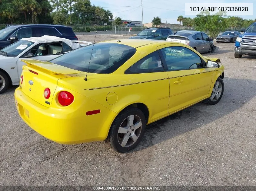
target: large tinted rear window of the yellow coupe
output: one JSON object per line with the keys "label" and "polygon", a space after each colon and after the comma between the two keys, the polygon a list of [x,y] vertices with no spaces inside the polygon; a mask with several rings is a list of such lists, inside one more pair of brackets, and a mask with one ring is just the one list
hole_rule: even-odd
{"label": "large tinted rear window of the yellow coupe", "polygon": [[[91,54],[92,47],[93,51]],[[135,52],[135,48],[123,44],[97,43],[94,46],[91,44],[75,49],[49,62],[83,72],[88,70],[90,73],[107,74],[118,69]]]}

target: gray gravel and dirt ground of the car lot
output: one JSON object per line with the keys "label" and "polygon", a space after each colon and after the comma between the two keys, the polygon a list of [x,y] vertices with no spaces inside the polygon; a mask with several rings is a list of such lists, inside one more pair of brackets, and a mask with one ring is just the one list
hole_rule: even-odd
{"label": "gray gravel and dirt ground of the car lot", "polygon": [[[93,41],[94,35],[78,36]],[[96,42],[118,39],[99,35]],[[18,116],[14,90],[0,95],[0,185],[256,185],[256,57],[234,58],[234,43],[215,43],[225,65],[221,101],[198,103],[148,125],[135,151],[104,142],[60,145]],[[208,54],[205,54],[206,56]]]}

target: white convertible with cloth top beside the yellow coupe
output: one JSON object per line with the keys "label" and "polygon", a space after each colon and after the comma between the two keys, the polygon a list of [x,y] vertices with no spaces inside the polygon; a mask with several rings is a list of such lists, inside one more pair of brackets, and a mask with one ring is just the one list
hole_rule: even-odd
{"label": "white convertible with cloth top beside the yellow coupe", "polygon": [[0,94],[10,84],[18,85],[22,66],[20,59],[49,61],[73,49],[92,44],[86,41],[71,41],[65,38],[42,36],[22,38],[0,50]]}

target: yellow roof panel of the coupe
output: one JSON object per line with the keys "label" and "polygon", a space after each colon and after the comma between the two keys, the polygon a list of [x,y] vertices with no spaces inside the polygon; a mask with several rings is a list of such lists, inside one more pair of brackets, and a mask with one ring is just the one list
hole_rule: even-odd
{"label": "yellow roof panel of the coupe", "polygon": [[153,43],[158,45],[163,45],[163,44],[173,44],[175,42],[166,41],[166,40],[153,40],[153,39],[120,39],[120,40],[109,40],[109,41],[104,41],[100,43],[116,43],[116,44],[131,46],[133,48],[138,48],[140,46],[145,46]]}

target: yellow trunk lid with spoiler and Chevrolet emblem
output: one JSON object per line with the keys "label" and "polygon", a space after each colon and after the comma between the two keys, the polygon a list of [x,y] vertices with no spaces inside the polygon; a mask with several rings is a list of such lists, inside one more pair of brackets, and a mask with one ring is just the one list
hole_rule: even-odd
{"label": "yellow trunk lid with spoiler and Chevrolet emblem", "polygon": [[[20,84],[22,92],[36,102],[51,107],[53,95],[61,78],[78,75],[80,71],[66,68],[61,65],[38,60],[22,60],[27,65],[23,66],[23,82]],[[44,90],[50,89],[50,97],[45,99]]]}

